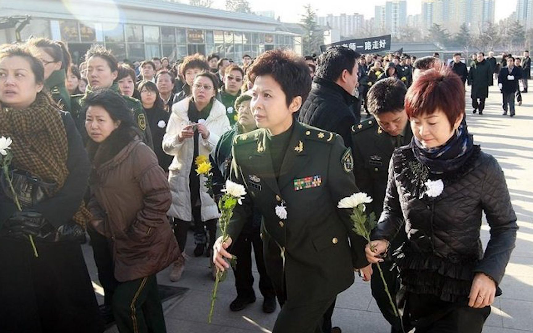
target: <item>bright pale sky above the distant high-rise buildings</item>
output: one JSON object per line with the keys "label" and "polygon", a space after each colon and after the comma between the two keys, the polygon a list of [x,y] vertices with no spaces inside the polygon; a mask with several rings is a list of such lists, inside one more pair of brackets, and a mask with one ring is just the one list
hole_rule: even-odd
{"label": "bright pale sky above the distant high-rise buildings", "polygon": [[[516,9],[517,1],[496,0],[496,22],[511,15]],[[319,16],[359,13],[365,15],[365,19],[369,19],[374,17],[374,6],[385,4],[386,0],[248,0],[248,2],[252,11],[273,10],[276,17],[281,17],[281,21],[298,22],[305,4],[311,4]],[[224,3],[225,0],[215,0],[213,7],[224,9]],[[419,14],[422,10],[421,4],[422,0],[407,0],[407,14]]]}

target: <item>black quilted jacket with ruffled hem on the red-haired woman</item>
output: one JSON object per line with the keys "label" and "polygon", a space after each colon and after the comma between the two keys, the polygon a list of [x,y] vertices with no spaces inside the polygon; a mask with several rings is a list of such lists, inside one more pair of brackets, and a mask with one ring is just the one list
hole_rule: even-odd
{"label": "black quilted jacket with ruffled hem on the red-haired woman", "polygon": [[[424,194],[428,177],[445,184],[440,196]],[[484,254],[479,238],[482,212],[491,234]],[[408,292],[459,302],[469,295],[477,272],[499,285],[518,226],[503,171],[479,146],[461,168],[441,175],[428,173],[409,147],[395,150],[372,239],[391,240],[404,221],[408,240],[395,259]]]}

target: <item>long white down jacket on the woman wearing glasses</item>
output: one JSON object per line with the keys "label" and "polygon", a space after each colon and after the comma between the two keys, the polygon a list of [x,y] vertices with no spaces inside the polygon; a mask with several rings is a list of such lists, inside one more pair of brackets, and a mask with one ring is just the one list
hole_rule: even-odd
{"label": "long white down jacket on the woman wearing glasses", "polygon": [[[172,115],[168,120],[162,143],[165,153],[174,156],[172,164],[168,168],[172,206],[167,214],[183,221],[192,221],[189,174],[194,154],[194,140],[191,138],[179,142],[177,136],[181,129],[189,124],[189,103],[191,103],[191,98],[186,98],[172,106]],[[198,153],[209,156],[215,149],[220,136],[231,128],[228,116],[226,116],[226,108],[218,100],[214,100],[204,125],[209,130],[209,137],[205,140],[201,135],[199,136]],[[200,176],[201,220],[204,222],[220,216],[215,201],[207,193],[204,185],[205,180],[204,176]]]}

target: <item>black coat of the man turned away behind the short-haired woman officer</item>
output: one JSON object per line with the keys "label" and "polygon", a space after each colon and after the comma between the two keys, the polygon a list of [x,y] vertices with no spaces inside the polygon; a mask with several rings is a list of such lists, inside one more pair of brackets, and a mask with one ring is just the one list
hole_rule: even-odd
{"label": "black coat of the man turned away behind the short-haired woman officer", "polygon": [[356,98],[340,85],[315,77],[311,92],[300,109],[299,120],[341,135],[346,147],[351,147],[351,127],[356,122],[351,109],[354,102]]}

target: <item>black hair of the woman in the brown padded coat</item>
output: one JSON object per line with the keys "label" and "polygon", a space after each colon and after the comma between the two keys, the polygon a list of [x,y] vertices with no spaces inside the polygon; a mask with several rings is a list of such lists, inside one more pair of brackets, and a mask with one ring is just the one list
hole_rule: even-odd
{"label": "black hair of the woman in the brown padded coat", "polygon": [[109,88],[99,88],[87,94],[85,98],[84,111],[89,107],[102,107],[106,109],[109,116],[114,121],[120,121],[120,127],[134,127],[135,122],[131,109],[126,100]]}

